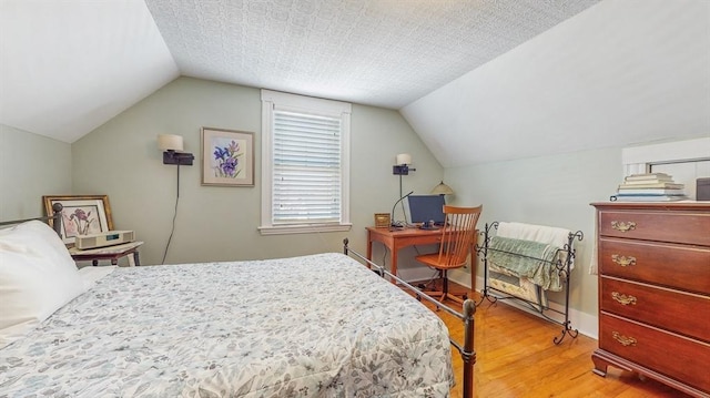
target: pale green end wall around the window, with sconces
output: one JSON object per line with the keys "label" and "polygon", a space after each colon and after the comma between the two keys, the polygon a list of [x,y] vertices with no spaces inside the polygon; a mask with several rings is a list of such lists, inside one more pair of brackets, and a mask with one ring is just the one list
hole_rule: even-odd
{"label": "pale green end wall around the window, with sconces", "polygon": [[[179,78],[72,145],[73,192],[108,194],[116,229],[134,229],[143,264],[159,264],[171,232],[176,195],[176,166],[162,164],[158,134],[179,134],[195,165],[180,169],[180,203],[166,263],[273,258],[339,252],[349,237],[365,253],[365,227],[374,213],[388,213],[398,198],[392,174],[397,153],[412,153],[416,172],[405,188],[428,192],[442,166],[402,115],[393,110],[353,105],[348,233],[262,236],[260,90]],[[255,133],[255,186],[202,186],[200,129]]]}

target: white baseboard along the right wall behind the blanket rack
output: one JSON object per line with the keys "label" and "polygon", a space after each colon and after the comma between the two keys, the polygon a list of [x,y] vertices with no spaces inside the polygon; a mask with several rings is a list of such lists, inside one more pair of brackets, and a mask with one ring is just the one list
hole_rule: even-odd
{"label": "white baseboard along the right wall behind the blanket rack", "polygon": [[[448,278],[452,279],[453,282],[462,285],[462,286],[466,286],[468,288],[471,288],[470,286],[470,274],[465,273],[463,271],[459,269],[453,269],[448,273]],[[480,292],[480,289],[484,286],[484,278],[476,276],[476,292]],[[521,310],[528,312],[530,314],[540,316],[538,313],[534,312],[532,309],[528,308],[525,304],[521,304],[517,300],[500,300],[500,303],[519,308]],[[562,304],[558,304],[555,302],[549,302],[549,307],[551,309],[558,310],[558,312],[565,312],[565,306]],[[564,315],[560,314],[556,314],[556,313],[551,313],[550,318],[559,320],[560,323],[565,320]],[[545,319],[542,317],[540,317],[541,319]],[[572,329],[577,329],[579,330],[580,334],[587,336],[587,337],[591,337],[594,339],[598,339],[599,338],[599,323],[597,319],[596,315],[590,315],[587,313],[582,313],[580,310],[577,310],[575,308],[569,308],[569,322],[570,322],[570,326],[572,327]]]}

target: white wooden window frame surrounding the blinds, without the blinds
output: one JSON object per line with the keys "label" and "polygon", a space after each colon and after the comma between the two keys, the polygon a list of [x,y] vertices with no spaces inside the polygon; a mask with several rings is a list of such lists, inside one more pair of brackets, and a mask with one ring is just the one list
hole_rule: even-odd
{"label": "white wooden window frame surrounding the blinds, without the blinds", "polygon": [[[351,112],[346,102],[262,90],[262,235],[305,234],[349,231]],[[341,119],[341,221],[339,223],[303,223],[274,225],[273,220],[273,135],[274,110]]]}

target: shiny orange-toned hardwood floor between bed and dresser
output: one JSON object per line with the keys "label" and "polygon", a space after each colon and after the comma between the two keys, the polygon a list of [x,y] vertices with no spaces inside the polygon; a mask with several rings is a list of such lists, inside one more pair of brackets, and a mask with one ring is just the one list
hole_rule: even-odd
{"label": "shiny orange-toned hardwood floor between bed and dresser", "polygon": [[[457,295],[467,293],[477,300],[479,297],[458,285],[452,290]],[[447,305],[457,308],[454,302],[447,302]],[[463,341],[460,320],[443,310],[437,314],[450,335]],[[475,324],[476,397],[689,397],[615,367],[609,367],[606,377],[595,375],[591,353],[597,348],[596,339],[580,334],[577,338],[566,336],[561,344],[555,345],[552,338],[560,334],[561,326],[504,303],[490,305],[484,302],[476,309]],[[462,396],[463,361],[458,351],[453,347],[452,350],[456,373],[452,397],[458,398]]]}

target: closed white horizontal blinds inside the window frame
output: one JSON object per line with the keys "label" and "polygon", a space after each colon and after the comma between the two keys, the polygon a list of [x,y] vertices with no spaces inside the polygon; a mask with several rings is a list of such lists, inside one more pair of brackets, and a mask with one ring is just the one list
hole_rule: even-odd
{"label": "closed white horizontal blinds inside the window frame", "polygon": [[341,119],[274,110],[272,223],[339,223]]}

